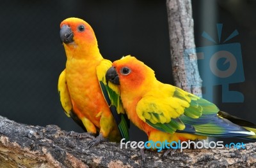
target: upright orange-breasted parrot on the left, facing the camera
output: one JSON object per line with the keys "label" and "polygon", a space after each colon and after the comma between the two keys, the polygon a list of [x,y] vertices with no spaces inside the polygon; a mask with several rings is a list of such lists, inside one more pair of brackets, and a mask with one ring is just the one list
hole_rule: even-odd
{"label": "upright orange-breasted parrot on the left, facing the camera", "polygon": [[[128,140],[129,123],[122,114],[122,105],[118,106],[118,87],[109,90],[106,86],[105,74],[112,63],[100,55],[92,27],[80,18],[67,18],[60,24],[60,39],[67,63],[60,74],[58,92],[66,115],[87,132],[99,134],[90,146],[106,138]],[[114,100],[109,99],[107,90]]]}

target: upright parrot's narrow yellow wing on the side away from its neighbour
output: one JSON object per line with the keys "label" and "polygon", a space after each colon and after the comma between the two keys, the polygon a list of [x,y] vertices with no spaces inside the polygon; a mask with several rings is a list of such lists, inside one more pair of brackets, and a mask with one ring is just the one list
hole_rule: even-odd
{"label": "upright parrot's narrow yellow wing on the side away from its neighbour", "polygon": [[60,77],[59,77],[58,92],[60,95],[61,106],[62,106],[65,114],[68,117],[71,117],[86,132],[83,122],[78,118],[76,113],[74,113],[74,111],[73,111],[72,101],[70,99],[70,94],[68,92],[65,69],[61,72]]}

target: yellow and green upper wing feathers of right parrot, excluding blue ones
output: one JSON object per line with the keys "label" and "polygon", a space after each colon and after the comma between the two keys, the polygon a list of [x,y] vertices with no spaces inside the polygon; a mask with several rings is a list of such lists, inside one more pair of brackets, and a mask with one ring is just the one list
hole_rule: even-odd
{"label": "yellow and green upper wing feathers of right parrot, excluding blue ones", "polygon": [[[157,92],[161,97],[156,96]],[[217,113],[218,108],[180,88],[163,84],[158,90],[154,90],[154,94],[143,97],[138,102],[136,111],[139,118],[148,125],[173,134],[176,130],[186,129],[186,123],[180,120],[180,116],[200,118],[203,113]]]}

